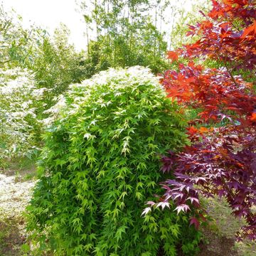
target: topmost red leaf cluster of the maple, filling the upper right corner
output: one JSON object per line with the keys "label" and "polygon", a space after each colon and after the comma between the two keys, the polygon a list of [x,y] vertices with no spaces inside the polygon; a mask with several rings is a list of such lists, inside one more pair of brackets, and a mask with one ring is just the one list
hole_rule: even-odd
{"label": "topmost red leaf cluster of the maple, filling the upper right corner", "polygon": [[[207,56],[232,63],[232,69],[252,69],[256,65],[255,1],[213,1],[207,20],[189,26],[188,36],[200,36],[196,43],[178,50],[186,58]],[[240,18],[239,25],[238,19]]]}

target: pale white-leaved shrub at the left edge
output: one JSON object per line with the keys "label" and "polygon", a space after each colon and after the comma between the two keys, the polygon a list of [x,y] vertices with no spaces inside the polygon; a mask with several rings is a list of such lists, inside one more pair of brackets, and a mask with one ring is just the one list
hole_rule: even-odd
{"label": "pale white-leaved shrub at the left edge", "polygon": [[0,69],[0,166],[38,150],[36,111],[44,89],[36,89],[27,70]]}

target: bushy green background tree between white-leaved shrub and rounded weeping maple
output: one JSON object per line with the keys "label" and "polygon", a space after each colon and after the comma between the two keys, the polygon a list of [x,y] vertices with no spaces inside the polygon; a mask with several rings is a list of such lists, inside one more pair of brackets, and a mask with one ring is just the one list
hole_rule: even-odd
{"label": "bushy green background tree between white-leaved shrub and rounded weeping maple", "polygon": [[53,38],[38,38],[38,46],[31,55],[28,68],[35,73],[37,87],[48,88],[43,102],[44,109],[53,105],[54,97],[67,90],[68,85],[85,79],[86,70],[82,65],[83,53],[76,53],[68,43],[69,31],[63,24],[55,30]]}

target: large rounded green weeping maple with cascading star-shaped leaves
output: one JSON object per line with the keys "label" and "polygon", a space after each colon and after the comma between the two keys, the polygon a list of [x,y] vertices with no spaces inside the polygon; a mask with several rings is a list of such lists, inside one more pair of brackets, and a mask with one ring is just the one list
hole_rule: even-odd
{"label": "large rounded green weeping maple with cascading star-shaped leaves", "polygon": [[[159,157],[187,144],[186,115],[149,69],[104,71],[52,108],[28,230],[55,255],[194,255],[187,215],[144,202],[161,193]],[[164,205],[162,206],[165,207]],[[39,253],[39,252],[38,252]]]}

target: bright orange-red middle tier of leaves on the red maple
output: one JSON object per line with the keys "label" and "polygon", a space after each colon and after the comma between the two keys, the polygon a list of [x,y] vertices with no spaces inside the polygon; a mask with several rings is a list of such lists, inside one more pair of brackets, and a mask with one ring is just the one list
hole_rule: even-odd
{"label": "bright orange-red middle tier of leaves on the red maple", "polygon": [[203,70],[201,65],[193,63],[180,64],[179,68],[178,72],[166,71],[161,79],[168,97],[202,109],[199,116],[205,123],[228,119],[246,127],[252,125],[256,96],[251,83],[238,76],[231,77],[225,69]]}

